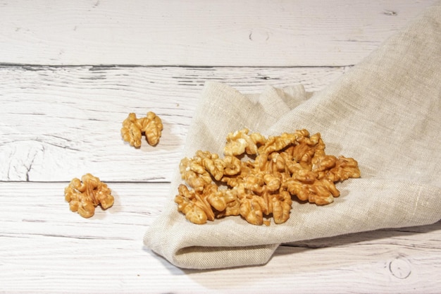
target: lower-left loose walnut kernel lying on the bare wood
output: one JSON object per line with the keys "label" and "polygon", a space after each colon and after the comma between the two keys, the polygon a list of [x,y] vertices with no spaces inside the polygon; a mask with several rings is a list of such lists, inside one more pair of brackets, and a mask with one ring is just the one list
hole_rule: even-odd
{"label": "lower-left loose walnut kernel lying on the bare wood", "polygon": [[64,195],[70,210],[85,218],[93,216],[98,205],[108,209],[114,200],[107,185],[90,173],[82,176],[81,180],[73,178],[64,189]]}

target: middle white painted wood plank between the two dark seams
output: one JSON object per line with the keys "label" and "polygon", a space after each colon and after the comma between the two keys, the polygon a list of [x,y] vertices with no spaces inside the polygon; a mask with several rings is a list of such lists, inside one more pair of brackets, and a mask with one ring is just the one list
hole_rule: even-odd
{"label": "middle white painted wood plank between the two dark seams", "polygon": [[[0,180],[168,181],[206,80],[246,93],[302,83],[319,90],[344,68],[0,67]],[[163,120],[156,147],[123,142],[130,112]]]}

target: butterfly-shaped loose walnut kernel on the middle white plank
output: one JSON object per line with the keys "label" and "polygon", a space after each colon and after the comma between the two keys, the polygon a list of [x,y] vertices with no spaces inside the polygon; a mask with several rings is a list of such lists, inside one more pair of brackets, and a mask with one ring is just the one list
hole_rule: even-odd
{"label": "butterfly-shaped loose walnut kernel on the middle white plank", "polygon": [[139,148],[141,146],[142,135],[146,136],[149,145],[155,146],[159,143],[162,129],[161,118],[149,111],[144,118],[137,118],[136,114],[129,114],[128,118],[123,121],[121,135],[123,140],[129,142],[133,147]]}

